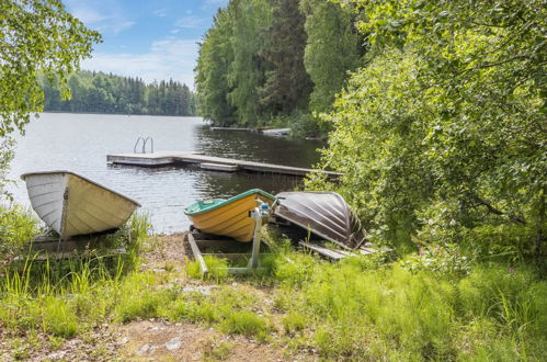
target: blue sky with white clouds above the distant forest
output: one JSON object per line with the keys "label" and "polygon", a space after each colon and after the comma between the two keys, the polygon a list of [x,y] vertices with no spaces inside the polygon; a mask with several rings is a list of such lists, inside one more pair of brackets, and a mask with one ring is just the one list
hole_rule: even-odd
{"label": "blue sky with white clouds above the distant forest", "polygon": [[194,84],[197,42],[228,0],[64,0],[67,10],[103,35],[82,69],[145,81]]}

